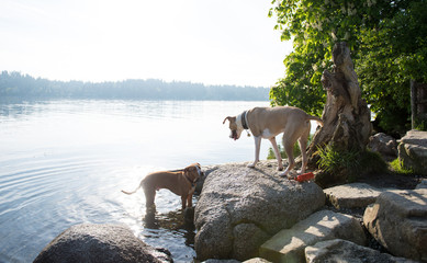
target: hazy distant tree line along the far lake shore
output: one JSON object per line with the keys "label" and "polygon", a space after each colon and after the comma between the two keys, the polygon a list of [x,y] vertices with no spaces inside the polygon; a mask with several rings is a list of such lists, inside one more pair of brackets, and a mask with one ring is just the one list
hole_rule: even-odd
{"label": "hazy distant tree line along the far lake shore", "polygon": [[0,98],[20,99],[116,99],[116,100],[213,100],[268,101],[269,89],[236,85],[204,85],[158,79],[83,82],[34,78],[2,71]]}

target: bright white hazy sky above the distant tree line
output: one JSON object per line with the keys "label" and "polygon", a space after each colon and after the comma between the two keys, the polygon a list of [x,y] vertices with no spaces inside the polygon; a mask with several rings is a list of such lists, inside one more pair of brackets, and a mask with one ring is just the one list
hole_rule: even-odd
{"label": "bright white hazy sky above the distant tree line", "polygon": [[270,0],[0,0],[0,70],[52,80],[271,87],[291,43]]}

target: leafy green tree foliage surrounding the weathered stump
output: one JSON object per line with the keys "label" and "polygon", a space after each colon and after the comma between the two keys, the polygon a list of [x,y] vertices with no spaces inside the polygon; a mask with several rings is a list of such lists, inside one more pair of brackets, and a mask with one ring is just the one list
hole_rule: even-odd
{"label": "leafy green tree foliage surrounding the weathered stump", "polygon": [[426,0],[273,0],[282,41],[293,41],[285,77],[270,90],[273,105],[294,105],[319,115],[325,102],[322,72],[332,69],[332,48],[347,42],[363,98],[386,132],[409,123],[409,80],[427,81]]}

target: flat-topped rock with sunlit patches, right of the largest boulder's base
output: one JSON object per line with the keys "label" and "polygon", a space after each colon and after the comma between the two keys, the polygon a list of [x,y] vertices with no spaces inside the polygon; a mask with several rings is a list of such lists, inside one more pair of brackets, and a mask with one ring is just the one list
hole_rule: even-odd
{"label": "flat-topped rock with sunlit patches, right of the largest boulder's base", "polygon": [[345,239],[363,245],[367,242],[360,222],[352,216],[319,210],[283,229],[260,248],[260,256],[271,262],[304,262],[304,249],[330,239]]}

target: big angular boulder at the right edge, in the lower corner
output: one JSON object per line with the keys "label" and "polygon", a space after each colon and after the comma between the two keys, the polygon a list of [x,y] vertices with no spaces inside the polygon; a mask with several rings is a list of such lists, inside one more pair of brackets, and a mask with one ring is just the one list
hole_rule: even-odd
{"label": "big angular boulder at the right edge, in the lower corner", "polygon": [[427,190],[383,192],[363,215],[369,232],[393,255],[427,261]]}

